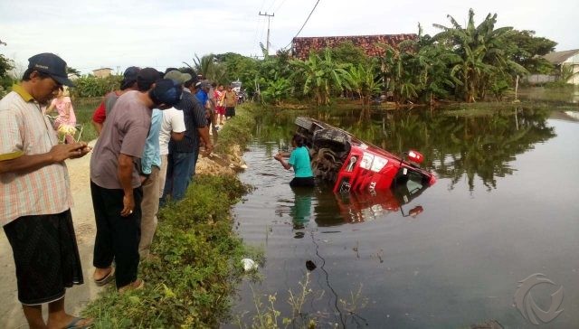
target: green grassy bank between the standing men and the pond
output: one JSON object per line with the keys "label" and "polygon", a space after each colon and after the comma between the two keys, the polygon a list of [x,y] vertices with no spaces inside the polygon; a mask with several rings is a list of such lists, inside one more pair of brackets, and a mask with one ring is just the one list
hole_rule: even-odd
{"label": "green grassy bank between the standing men and the pond", "polygon": [[[251,113],[242,108],[219,136],[217,152],[249,141]],[[247,192],[233,175],[195,175],[185,200],[158,214],[151,252],[141,263],[143,290],[119,296],[111,285],[84,315],[95,328],[216,327],[229,316],[231,296],[242,276],[241,258],[255,257],[232,230],[231,206]]]}

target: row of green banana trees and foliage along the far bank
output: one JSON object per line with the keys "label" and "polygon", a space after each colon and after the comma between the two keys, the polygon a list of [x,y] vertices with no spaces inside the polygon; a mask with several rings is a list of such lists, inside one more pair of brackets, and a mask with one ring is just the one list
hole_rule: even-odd
{"label": "row of green banana trees and foliage along the far bank", "polygon": [[[470,9],[465,26],[448,15],[450,25],[434,24],[440,33],[432,36],[423,34],[419,25],[414,40],[397,47],[380,45],[384,52],[378,57],[344,42],[312,51],[304,60],[292,58],[289,50],[270,56],[261,46],[261,59],[211,53],[195,55],[191,64],[183,65],[218,83],[240,80],[248,94],[264,103],[295,99],[321,106],[344,95],[359,99],[364,107],[380,95],[396,104],[502,99],[517,76],[554,73],[554,66],[541,56],[553,52],[556,42],[536,37],[533,31],[497,27],[497,14],[475,24],[474,15]],[[102,96],[115,81],[82,77],[73,94]]]}

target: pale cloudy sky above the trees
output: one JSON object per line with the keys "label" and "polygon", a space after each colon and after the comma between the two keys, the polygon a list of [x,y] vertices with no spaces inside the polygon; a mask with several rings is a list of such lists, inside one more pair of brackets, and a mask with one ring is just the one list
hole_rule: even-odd
{"label": "pale cloudy sky above the trees", "polygon": [[181,67],[195,55],[236,52],[261,55],[270,17],[270,52],[299,36],[440,32],[450,14],[466,24],[469,9],[479,24],[498,14],[496,27],[533,30],[558,42],[556,51],[579,49],[578,0],[0,0],[0,53],[24,72],[27,59],[53,52],[83,73],[131,65]]}

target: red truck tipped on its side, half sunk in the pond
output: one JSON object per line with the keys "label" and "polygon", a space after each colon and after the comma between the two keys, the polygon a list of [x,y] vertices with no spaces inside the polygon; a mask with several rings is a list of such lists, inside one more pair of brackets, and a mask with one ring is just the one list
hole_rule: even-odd
{"label": "red truck tipped on its side, half sunk in the pond", "polygon": [[393,155],[313,118],[298,117],[295,124],[310,150],[314,176],[333,183],[335,193],[384,191],[409,181],[436,183],[434,174],[420,167],[423,156],[416,151]]}

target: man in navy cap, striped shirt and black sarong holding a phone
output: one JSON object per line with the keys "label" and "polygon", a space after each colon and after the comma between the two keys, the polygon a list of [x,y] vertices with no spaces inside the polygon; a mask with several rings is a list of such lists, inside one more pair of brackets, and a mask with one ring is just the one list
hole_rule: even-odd
{"label": "man in navy cap, striped shirt and black sarong holding a phone", "polygon": [[65,288],[83,282],[64,160],[86,155],[90,148],[58,144],[41,110],[59,87],[72,85],[66,62],[52,53],[28,61],[23,80],[0,100],[0,222],[14,253],[18,299],[29,326],[83,327],[92,320],[64,311]]}

